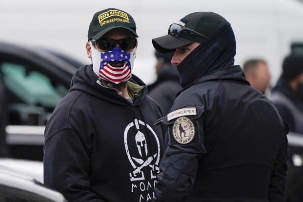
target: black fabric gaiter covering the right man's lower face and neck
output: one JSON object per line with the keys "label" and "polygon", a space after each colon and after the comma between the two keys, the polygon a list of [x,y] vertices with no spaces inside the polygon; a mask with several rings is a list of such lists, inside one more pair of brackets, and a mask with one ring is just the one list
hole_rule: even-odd
{"label": "black fabric gaiter covering the right man's lower face and neck", "polygon": [[184,88],[214,70],[234,65],[235,55],[235,35],[227,23],[177,66],[181,86]]}

